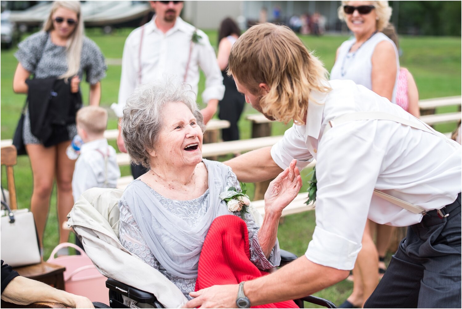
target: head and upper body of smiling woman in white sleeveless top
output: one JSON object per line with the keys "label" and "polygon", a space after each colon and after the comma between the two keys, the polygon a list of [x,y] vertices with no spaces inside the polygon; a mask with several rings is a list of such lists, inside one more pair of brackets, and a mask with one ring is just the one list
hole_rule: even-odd
{"label": "head and upper body of smiling woman in white sleeveless top", "polygon": [[[337,49],[330,79],[351,79],[395,103],[395,85],[400,67],[398,50],[392,40],[378,32],[388,24],[391,8],[388,4],[382,8],[380,5],[383,6],[383,3],[375,5],[374,2],[386,1],[342,1],[339,17],[345,19],[354,37],[343,42]],[[363,12],[371,11],[361,14],[355,9],[353,13],[347,14],[345,6],[347,10],[359,7],[365,10]],[[389,14],[381,12],[387,9]]]}

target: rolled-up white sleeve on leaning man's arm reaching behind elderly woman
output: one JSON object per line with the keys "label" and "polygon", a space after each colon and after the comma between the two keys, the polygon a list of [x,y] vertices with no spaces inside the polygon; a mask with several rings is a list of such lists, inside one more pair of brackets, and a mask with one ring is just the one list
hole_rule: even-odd
{"label": "rolled-up white sleeve on leaning man's arm reaching behind elderly woman", "polygon": [[308,165],[313,156],[306,148],[305,126],[293,125],[286,130],[284,138],[271,147],[271,157],[281,169],[286,169],[293,159],[297,159],[297,166],[302,170]]}

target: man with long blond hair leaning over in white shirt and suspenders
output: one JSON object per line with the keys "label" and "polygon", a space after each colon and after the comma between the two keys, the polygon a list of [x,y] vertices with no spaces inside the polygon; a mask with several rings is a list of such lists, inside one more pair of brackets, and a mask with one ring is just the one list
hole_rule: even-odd
{"label": "man with long blond hair leaning over in white shirt and suspenders", "polygon": [[327,81],[285,26],[251,27],[228,72],[255,109],[294,125],[273,147],[227,164],[240,181],[258,182],[316,159],[316,228],[298,260],[245,285],[192,292],[186,307],[249,308],[333,285],[353,269],[370,218],[410,227],[365,306],[460,308],[461,146],[363,86]]}

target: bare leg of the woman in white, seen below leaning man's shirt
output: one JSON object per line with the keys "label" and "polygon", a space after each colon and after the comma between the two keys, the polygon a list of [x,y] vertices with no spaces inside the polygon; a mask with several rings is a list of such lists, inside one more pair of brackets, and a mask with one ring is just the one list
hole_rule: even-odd
{"label": "bare leg of the woman in white, seen below leaning man's shirt", "polygon": [[367,220],[361,241],[362,248],[353,269],[353,293],[347,298],[355,307],[361,308],[378,284],[378,254],[370,229],[370,221]]}

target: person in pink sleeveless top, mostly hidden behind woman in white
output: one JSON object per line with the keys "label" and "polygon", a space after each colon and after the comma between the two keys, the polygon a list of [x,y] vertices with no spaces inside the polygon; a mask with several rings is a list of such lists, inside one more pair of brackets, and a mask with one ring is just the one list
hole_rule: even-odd
{"label": "person in pink sleeveless top, mostly hidden behind woman in white", "polygon": [[[382,33],[388,36],[396,45],[396,48],[400,48],[398,42],[398,35],[396,34],[395,27],[389,24],[382,30]],[[401,106],[405,111],[413,115],[414,117],[420,117],[419,109],[419,90],[415,84],[414,77],[405,67],[400,67],[400,73],[398,77],[398,85],[396,86],[396,104]],[[377,250],[380,249],[377,244]]]}

